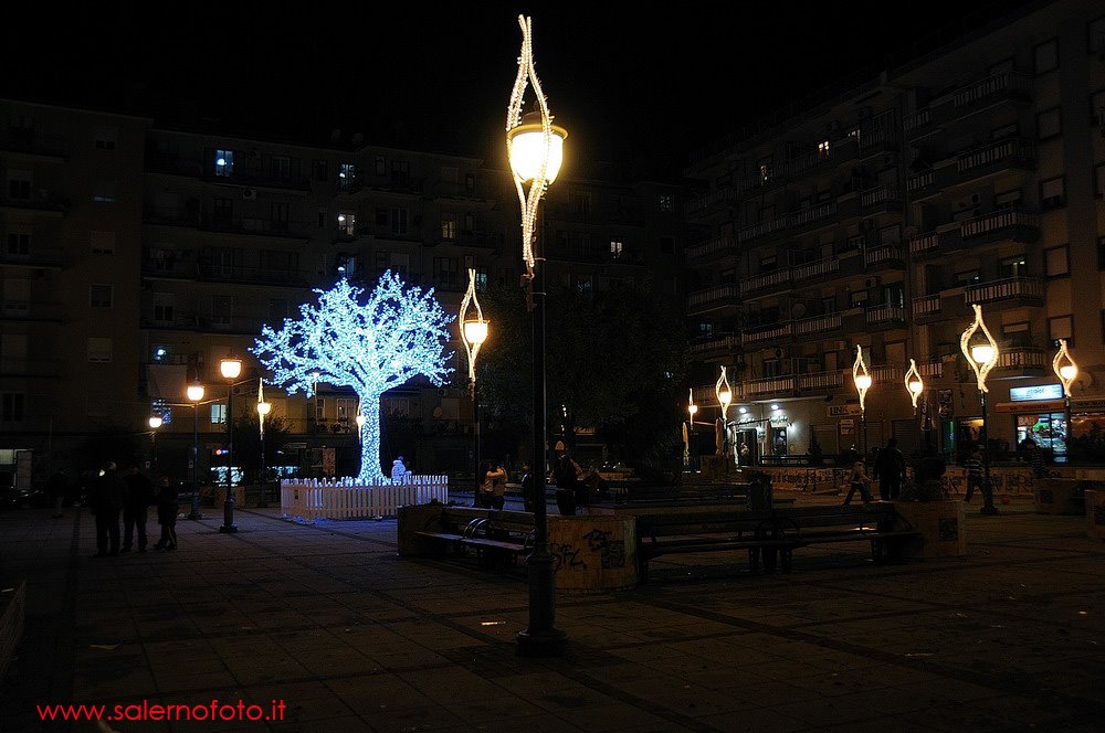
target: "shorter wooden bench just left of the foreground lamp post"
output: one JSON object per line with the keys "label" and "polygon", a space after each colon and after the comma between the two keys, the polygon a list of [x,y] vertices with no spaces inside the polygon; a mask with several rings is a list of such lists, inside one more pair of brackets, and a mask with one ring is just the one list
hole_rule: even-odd
{"label": "shorter wooden bench just left of the foreground lamp post", "polygon": [[446,548],[474,548],[480,564],[504,556],[513,561],[533,550],[534,516],[524,511],[445,507],[414,534]]}

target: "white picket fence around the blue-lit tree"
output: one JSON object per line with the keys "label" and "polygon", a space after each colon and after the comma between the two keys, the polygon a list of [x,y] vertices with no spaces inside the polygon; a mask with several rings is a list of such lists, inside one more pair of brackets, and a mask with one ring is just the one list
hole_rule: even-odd
{"label": "white picket fence around the blue-lit tree", "polygon": [[449,501],[448,476],[407,476],[401,482],[359,484],[356,479],[285,479],[280,504],[286,519],[369,519],[393,517],[399,507]]}

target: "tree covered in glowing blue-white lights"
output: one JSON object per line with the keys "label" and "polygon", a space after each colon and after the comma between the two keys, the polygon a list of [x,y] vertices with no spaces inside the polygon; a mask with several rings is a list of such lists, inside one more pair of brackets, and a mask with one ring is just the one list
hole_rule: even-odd
{"label": "tree covered in glowing blue-white lights", "polygon": [[441,386],[452,371],[445,353],[446,314],[433,289],[404,288],[388,270],[361,305],[362,288],[338,280],[315,290],[318,305],[299,306],[298,319],[284,319],[281,330],[265,326],[250,349],[272,373],[266,380],[288,394],[308,397],[318,382],[351,387],[360,397],[360,481],[382,482],[380,470],[380,397],[414,376]]}

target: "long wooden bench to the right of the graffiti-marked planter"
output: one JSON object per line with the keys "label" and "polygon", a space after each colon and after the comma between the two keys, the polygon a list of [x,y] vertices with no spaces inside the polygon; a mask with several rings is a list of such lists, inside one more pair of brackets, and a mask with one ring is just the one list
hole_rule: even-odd
{"label": "long wooden bench to the right of the graffiti-marked planter", "polygon": [[[906,529],[898,529],[905,524]],[[638,517],[638,573],[649,577],[649,561],[665,554],[746,550],[751,572],[791,569],[797,548],[870,541],[875,562],[902,560],[904,543],[917,538],[893,504],[799,507],[768,511],[661,513]]]}

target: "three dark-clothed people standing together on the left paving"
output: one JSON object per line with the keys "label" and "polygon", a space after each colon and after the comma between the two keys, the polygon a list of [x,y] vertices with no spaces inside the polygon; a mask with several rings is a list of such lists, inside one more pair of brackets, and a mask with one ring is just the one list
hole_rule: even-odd
{"label": "three dark-clothed people standing together on the left paving", "polygon": [[[104,464],[99,476],[88,491],[88,507],[96,516],[96,554],[93,557],[108,557],[120,552],[130,552],[137,540],[138,552],[146,552],[148,539],[146,522],[148,508],[157,507],[157,521],[161,525],[161,537],[154,544],[155,550],[177,549],[177,489],[162,476],[157,490],[149,477],[139,472],[137,466],[128,466],[119,475],[114,461]],[[119,517],[123,518],[122,546]],[[54,517],[60,512],[55,506]]]}

